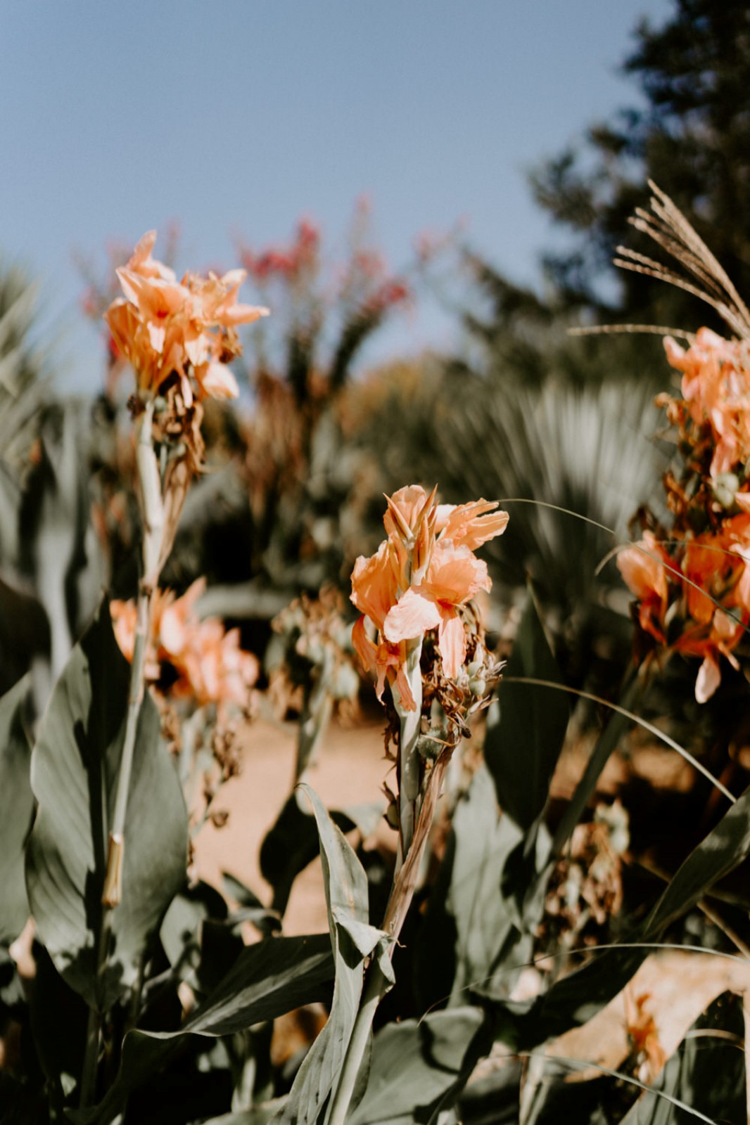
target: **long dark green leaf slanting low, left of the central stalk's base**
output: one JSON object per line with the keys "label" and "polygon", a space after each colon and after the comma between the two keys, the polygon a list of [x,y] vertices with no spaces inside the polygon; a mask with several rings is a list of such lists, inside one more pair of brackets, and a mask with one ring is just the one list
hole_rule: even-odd
{"label": "long dark green leaf slanting low, left of the central stalk's base", "polygon": [[71,1115],[79,1125],[109,1125],[133,1090],[179,1053],[188,1035],[232,1035],[313,1004],[330,993],[333,960],[328,934],[275,937],[247,946],[221,986],[178,1032],[128,1032],[119,1072],[93,1109]]}

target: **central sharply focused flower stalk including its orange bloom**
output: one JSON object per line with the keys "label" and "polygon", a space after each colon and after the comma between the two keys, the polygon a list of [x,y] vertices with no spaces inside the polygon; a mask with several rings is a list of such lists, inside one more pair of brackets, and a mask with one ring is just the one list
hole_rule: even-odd
{"label": "central sharply focused flower stalk including its orange bloom", "polygon": [[[382,926],[391,939],[391,957],[419,882],[445,772],[461,737],[467,732],[466,714],[481,705],[468,686],[471,674],[465,662],[473,658],[474,678],[477,672],[484,672],[490,681],[497,680],[501,667],[484,667],[483,646],[476,634],[467,636],[471,613],[466,606],[480,590],[490,588],[486,564],[474,556],[473,548],[501,534],[508,515],[493,512],[497,503],[483,500],[458,507],[436,505],[436,493],[434,489],[427,496],[421,487],[411,486],[386,497],[387,539],[376,555],[357,559],[351,577],[351,600],[363,614],[352,641],[365,667],[377,677],[378,698],[385,682],[390,683],[399,719],[399,844]],[[375,626],[375,640],[366,631],[365,618]],[[426,649],[431,669],[425,673],[422,648],[428,633],[436,644]],[[482,658],[476,659],[479,656]],[[450,727],[447,738],[443,731],[439,736],[432,732],[434,704]],[[443,747],[429,763],[426,741]],[[375,1011],[391,986],[392,976],[389,979],[381,960],[373,955],[331,1099],[329,1125],[345,1125]]]}

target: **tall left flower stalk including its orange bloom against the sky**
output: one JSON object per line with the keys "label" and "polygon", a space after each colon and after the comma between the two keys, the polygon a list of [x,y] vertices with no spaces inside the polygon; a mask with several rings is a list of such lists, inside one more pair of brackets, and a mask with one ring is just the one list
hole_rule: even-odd
{"label": "tall left flower stalk including its orange bloom against the sky", "polygon": [[[114,300],[105,313],[114,349],[130,361],[136,377],[132,402],[143,549],[125,734],[101,894],[98,983],[104,979],[110,953],[113,912],[123,898],[127,803],[145,691],[152,602],[190,479],[203,462],[200,402],[207,397],[236,397],[239,388],[227,367],[232,358],[242,353],[236,328],[268,313],[238,303],[247,276],[244,270],[231,270],[221,278],[214,273],[207,278],[186,273],[178,281],[171,269],[152,258],[155,238],[155,231],[145,234],[128,262],[117,270],[124,296]],[[96,1097],[102,1008],[102,1004],[97,1004],[89,1009],[82,1107]]]}

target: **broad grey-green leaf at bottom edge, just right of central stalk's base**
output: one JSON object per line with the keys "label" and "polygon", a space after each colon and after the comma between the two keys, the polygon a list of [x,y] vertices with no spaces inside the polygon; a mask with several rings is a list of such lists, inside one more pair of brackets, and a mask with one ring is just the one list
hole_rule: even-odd
{"label": "broad grey-green leaf at bottom edge, just right of central stalk's base", "polygon": [[373,1042],[365,1096],[347,1125],[429,1122],[463,1088],[491,1036],[481,1008],[449,1008],[386,1024]]}

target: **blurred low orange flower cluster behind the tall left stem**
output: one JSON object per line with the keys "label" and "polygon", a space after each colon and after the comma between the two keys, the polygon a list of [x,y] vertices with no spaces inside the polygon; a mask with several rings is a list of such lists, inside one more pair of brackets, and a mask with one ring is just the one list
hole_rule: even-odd
{"label": "blurred low orange flower cluster behind the tall left stem", "polygon": [[[252,652],[240,648],[240,631],[224,631],[217,618],[198,619],[196,602],[206,588],[198,578],[182,594],[157,591],[152,609],[152,642],[145,662],[146,680],[169,683],[172,699],[247,706],[250,688],[260,670]],[[133,659],[136,608],[134,602],[110,603],[115,637],[123,654]],[[164,672],[169,669],[169,675]]]}

